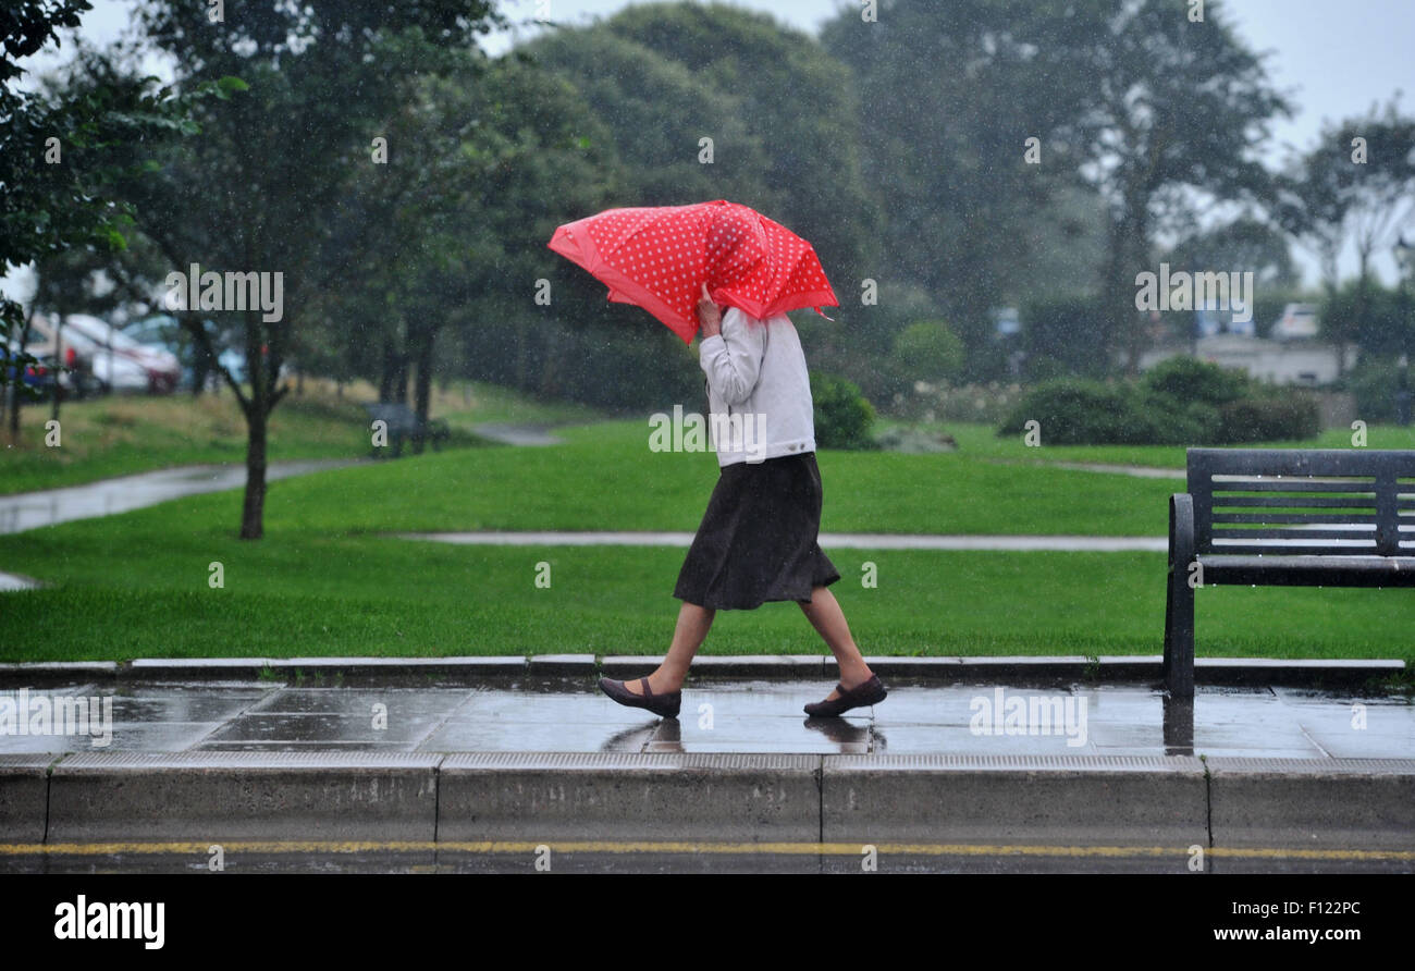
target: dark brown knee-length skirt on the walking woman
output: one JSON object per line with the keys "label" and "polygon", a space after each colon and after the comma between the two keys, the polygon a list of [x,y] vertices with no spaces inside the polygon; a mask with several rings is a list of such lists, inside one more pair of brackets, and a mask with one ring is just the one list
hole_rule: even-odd
{"label": "dark brown knee-length skirt on the walking woman", "polygon": [[809,602],[815,587],[841,579],[816,544],[821,495],[814,452],[726,466],[674,596],[713,610]]}

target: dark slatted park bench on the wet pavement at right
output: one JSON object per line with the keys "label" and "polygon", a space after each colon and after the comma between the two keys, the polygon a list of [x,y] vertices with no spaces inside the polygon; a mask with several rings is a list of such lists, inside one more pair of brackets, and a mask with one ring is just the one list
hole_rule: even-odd
{"label": "dark slatted park bench on the wet pavement at right", "polygon": [[1172,696],[1194,694],[1196,587],[1415,586],[1415,452],[1187,454],[1189,491],[1169,500],[1163,674]]}

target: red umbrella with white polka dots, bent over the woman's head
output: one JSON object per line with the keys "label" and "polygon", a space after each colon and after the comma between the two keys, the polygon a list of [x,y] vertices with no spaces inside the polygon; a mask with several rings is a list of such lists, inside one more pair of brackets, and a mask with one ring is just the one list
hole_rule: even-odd
{"label": "red umbrella with white polka dots, bent over the woman's head", "polygon": [[606,209],[560,226],[549,246],[608,286],[610,300],[642,307],[685,343],[698,333],[705,283],[715,303],[758,320],[839,306],[811,243],[726,200]]}

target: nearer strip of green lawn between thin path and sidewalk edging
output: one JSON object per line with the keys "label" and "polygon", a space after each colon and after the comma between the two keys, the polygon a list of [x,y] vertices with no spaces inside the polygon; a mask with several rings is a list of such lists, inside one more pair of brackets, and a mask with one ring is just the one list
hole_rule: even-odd
{"label": "nearer strip of green lawn between thin path and sidewalk edging", "polygon": [[[143,514],[133,514],[142,518]],[[130,517],[122,517],[130,518]],[[59,527],[33,573],[64,586],[7,594],[3,660],[456,654],[658,654],[683,552],[664,548],[449,546],[272,531],[243,544],[163,524]],[[149,541],[142,556],[119,542]],[[4,551],[7,561],[13,559]],[[23,563],[25,558],[20,556]],[[874,654],[1157,654],[1159,553],[836,551],[835,590]],[[221,562],[225,586],[208,586]],[[550,565],[550,587],[535,586]],[[862,566],[877,568],[865,589]],[[1201,655],[1409,657],[1415,624],[1394,590],[1217,589],[1199,596]],[[722,611],[709,654],[824,654],[794,604]]]}

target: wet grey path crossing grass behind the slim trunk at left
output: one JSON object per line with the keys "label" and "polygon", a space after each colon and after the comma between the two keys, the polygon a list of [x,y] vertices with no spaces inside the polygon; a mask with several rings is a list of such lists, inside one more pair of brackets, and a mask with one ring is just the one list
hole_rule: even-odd
{"label": "wet grey path crossing grass behind the slim trunk at left", "polygon": [[[267,481],[303,476],[324,469],[340,469],[357,464],[358,459],[308,459],[294,461],[273,461],[266,469]],[[168,500],[219,493],[245,486],[246,467],[241,463],[226,466],[183,466],[158,471],[105,478],[86,486],[52,488],[42,493],[21,493],[0,495],[0,534],[24,532],[71,519],[91,519],[156,505]]]}

